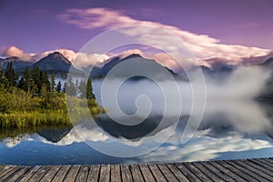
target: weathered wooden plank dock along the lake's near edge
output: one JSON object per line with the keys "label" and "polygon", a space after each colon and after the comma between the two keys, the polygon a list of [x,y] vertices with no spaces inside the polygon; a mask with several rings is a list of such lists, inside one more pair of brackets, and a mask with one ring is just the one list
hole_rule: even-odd
{"label": "weathered wooden plank dock along the lake's near edge", "polygon": [[273,181],[273,158],[157,165],[1,165],[0,181]]}

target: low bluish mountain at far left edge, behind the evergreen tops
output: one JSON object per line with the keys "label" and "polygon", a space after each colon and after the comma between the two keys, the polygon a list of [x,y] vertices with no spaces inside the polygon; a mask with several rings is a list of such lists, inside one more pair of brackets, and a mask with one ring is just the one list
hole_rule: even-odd
{"label": "low bluish mountain at far left edge, behind the evergreen tops", "polygon": [[10,62],[13,63],[13,67],[15,68],[16,72],[22,72],[26,66],[32,66],[34,64],[34,60],[23,61],[19,57],[11,56],[5,59],[0,59],[0,65],[2,66],[2,69],[5,70],[5,67]]}

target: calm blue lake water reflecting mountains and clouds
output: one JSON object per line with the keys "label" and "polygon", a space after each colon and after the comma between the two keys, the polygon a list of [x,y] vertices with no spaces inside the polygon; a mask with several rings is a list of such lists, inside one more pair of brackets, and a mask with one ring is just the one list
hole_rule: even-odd
{"label": "calm blue lake water reflecting mountains and clouds", "polygon": [[[124,89],[126,90],[126,86]],[[119,96],[120,107],[128,115],[136,112],[134,102],[128,105],[128,100],[134,100],[135,95],[143,94],[143,91],[136,91],[132,86],[130,90],[135,91],[130,92],[131,95],[120,95],[127,98]],[[95,86],[97,100],[101,103],[98,92],[99,86]],[[160,96],[155,93],[157,91],[148,90],[144,94],[150,95],[152,102],[161,102],[158,101]],[[122,102],[123,100],[126,102]],[[136,126],[123,126],[108,116],[98,116],[96,125],[89,125],[88,121],[85,121],[74,128],[40,128],[35,132],[31,129],[2,131],[0,163],[127,164],[272,157],[272,103],[250,99],[210,98],[207,100],[205,114],[197,132],[186,144],[180,141],[189,116],[187,104],[179,116],[179,121],[174,121],[172,116],[169,116],[168,122],[162,125],[159,125],[162,107],[157,103],[157,108],[151,111],[152,114]],[[122,116],[119,118],[123,119]],[[171,132],[172,130],[174,132]],[[13,137],[7,136],[13,133]],[[162,144],[164,140],[166,141]],[[141,153],[149,148],[152,148],[152,151]],[[106,151],[104,153],[110,153],[112,156],[127,157],[111,157],[100,151]],[[141,155],[137,156],[137,153]],[[130,154],[135,156],[129,157]]]}

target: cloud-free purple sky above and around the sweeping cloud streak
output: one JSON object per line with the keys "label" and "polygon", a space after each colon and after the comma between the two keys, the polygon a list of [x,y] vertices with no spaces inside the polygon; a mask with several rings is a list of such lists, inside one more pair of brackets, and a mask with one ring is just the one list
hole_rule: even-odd
{"label": "cloud-free purple sky above and around the sweeping cloud streak", "polygon": [[11,45],[25,52],[56,48],[78,51],[105,28],[84,29],[67,24],[57,15],[67,9],[92,7],[209,35],[222,44],[273,49],[272,0],[1,0],[0,52]]}

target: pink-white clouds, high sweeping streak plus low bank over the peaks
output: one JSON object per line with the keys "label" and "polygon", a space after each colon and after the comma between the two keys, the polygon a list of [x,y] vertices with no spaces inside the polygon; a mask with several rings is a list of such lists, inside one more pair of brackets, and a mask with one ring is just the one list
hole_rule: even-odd
{"label": "pink-white clouds, high sweeping streak plus low bank over the peaks", "polygon": [[[158,27],[158,29],[166,30],[172,35],[176,35],[181,43],[187,46],[187,49],[193,53],[197,58],[196,63],[192,63],[192,60],[178,60],[184,62],[183,64],[189,65],[201,65],[215,68],[218,66],[238,66],[238,65],[255,65],[262,63],[269,57],[273,56],[272,50],[250,47],[245,45],[225,45],[217,38],[209,35],[197,35],[185,30],[182,30],[174,25],[163,25],[156,22],[149,22],[143,20],[137,20],[128,15],[122,14],[116,10],[108,8],[87,8],[87,9],[67,9],[62,14],[57,15],[61,21],[66,24],[76,25],[83,29],[104,28],[105,30],[125,26],[125,25],[152,25]],[[137,26],[128,27],[126,31],[122,31],[123,35],[137,36],[139,39],[146,42],[157,45],[165,45],[170,52],[176,49],[174,43],[172,43],[167,35],[160,35],[160,31],[143,32],[141,28]],[[160,37],[160,39],[158,39]],[[77,68],[83,66],[103,64],[103,62],[116,55],[99,55],[99,54],[84,54],[76,53],[69,49],[56,49],[45,51],[44,53],[25,53],[22,49],[15,45],[7,48],[2,56],[18,56],[25,61],[38,61],[42,57],[47,56],[55,51],[60,52],[66,58],[72,62]],[[141,56],[147,56],[157,60],[157,62],[163,66],[167,66],[170,69],[177,70],[180,68],[179,64],[173,57],[166,53],[151,53],[145,50],[128,50],[121,53],[121,57],[125,57],[129,54],[139,54]],[[75,61],[77,57],[77,60]],[[183,59],[183,58],[181,58]]]}

